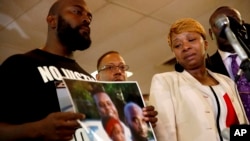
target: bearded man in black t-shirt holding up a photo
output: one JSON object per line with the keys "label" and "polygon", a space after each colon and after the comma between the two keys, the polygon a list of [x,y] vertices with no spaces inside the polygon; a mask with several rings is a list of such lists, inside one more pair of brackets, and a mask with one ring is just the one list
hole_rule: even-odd
{"label": "bearded man in black t-shirt holding up a photo", "polygon": [[55,81],[95,80],[73,59],[91,44],[84,0],[58,0],[47,16],[45,46],[7,58],[0,67],[0,140],[71,140],[84,115],[60,112]]}

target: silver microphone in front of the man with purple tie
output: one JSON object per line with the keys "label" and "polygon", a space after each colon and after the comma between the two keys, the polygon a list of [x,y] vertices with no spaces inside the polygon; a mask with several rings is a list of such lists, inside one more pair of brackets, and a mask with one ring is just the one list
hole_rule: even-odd
{"label": "silver microphone in front of the man with purple tie", "polygon": [[[229,43],[232,45],[233,49],[238,54],[241,61],[245,62],[245,60],[248,60],[248,55],[246,54],[245,50],[242,48],[241,44],[239,43],[238,39],[235,37],[235,34],[230,28],[228,17],[224,14],[218,15],[215,19],[215,26],[219,29],[220,36],[224,35],[223,33],[225,33]],[[241,74],[242,70],[240,67],[237,76],[235,76],[235,82],[237,82]]]}

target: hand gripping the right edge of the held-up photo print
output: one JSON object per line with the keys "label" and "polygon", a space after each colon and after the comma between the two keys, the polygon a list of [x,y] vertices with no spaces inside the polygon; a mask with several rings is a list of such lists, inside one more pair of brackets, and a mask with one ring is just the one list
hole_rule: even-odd
{"label": "hand gripping the right edge of the held-up photo print", "polygon": [[155,111],[154,106],[146,106],[143,109],[143,115],[145,117],[145,121],[150,122],[152,127],[156,126],[156,122],[158,121],[158,118],[156,117],[158,115],[158,112]]}

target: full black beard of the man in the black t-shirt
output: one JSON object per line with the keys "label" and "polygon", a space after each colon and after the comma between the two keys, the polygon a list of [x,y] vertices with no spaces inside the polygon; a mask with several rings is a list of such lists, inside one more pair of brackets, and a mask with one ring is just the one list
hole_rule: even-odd
{"label": "full black beard of the man in the black t-shirt", "polygon": [[62,16],[58,17],[57,36],[59,41],[70,51],[85,50],[91,45],[89,33],[80,33],[81,26],[83,25],[72,28]]}

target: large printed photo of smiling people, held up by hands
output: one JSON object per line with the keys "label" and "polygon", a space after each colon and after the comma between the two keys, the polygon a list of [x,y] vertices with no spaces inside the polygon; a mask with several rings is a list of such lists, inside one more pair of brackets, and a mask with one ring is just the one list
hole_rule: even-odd
{"label": "large printed photo of smiling people, held up by hands", "polygon": [[85,114],[80,133],[90,141],[156,141],[137,82],[64,79],[57,92],[62,111]]}

